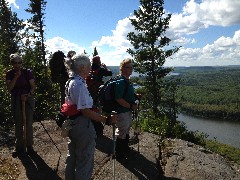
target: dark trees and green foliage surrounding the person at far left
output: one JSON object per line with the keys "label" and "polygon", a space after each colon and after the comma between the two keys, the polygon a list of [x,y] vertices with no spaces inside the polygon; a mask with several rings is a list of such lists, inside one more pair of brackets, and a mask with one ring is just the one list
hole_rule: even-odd
{"label": "dark trees and green foliage surrounding the person at far left", "polygon": [[[50,81],[50,72],[45,59],[43,27],[46,2],[44,0],[30,1],[30,7],[27,9],[27,12],[33,14],[33,17],[28,20],[31,26],[22,34],[18,33],[22,28],[22,21],[18,20],[15,13],[11,12],[4,0],[1,0],[0,3],[0,101],[2,105],[0,127],[5,129],[12,128],[14,123],[11,116],[10,94],[6,88],[5,74],[10,69],[9,55],[16,51],[23,54],[23,66],[33,70],[36,80],[34,119],[44,120],[53,118],[55,112],[60,108],[60,92],[59,86]],[[4,28],[7,28],[7,34],[3,31]],[[20,40],[24,38],[27,41],[21,42]],[[21,48],[18,49],[20,44]]]}

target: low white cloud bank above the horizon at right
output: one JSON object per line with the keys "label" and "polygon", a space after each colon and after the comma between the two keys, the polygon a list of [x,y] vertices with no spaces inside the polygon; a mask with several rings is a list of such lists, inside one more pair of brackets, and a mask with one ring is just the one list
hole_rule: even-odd
{"label": "low white cloud bank above the horizon at right", "polygon": [[240,64],[240,30],[233,37],[220,37],[203,48],[181,48],[166,66],[214,66]]}

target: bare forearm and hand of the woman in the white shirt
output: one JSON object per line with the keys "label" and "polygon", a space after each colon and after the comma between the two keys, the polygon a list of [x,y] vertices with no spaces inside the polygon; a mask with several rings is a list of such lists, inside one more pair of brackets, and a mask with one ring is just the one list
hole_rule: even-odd
{"label": "bare forearm and hand of the woman in the white shirt", "polygon": [[106,124],[116,123],[116,117],[114,115],[111,115],[111,116],[108,116],[108,117],[103,116],[103,115],[98,114],[98,113],[96,113],[96,112],[94,112],[94,111],[92,111],[91,109],[88,109],[88,108],[81,109],[80,111],[84,116],[86,116],[86,117],[88,117],[88,118],[90,118],[94,121],[104,122]]}

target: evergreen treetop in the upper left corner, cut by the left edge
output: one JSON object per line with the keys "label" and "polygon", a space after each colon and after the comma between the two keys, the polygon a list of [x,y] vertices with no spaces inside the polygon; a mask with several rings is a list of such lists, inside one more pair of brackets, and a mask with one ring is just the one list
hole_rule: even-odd
{"label": "evergreen treetop in the upper left corner, cut by the left edge", "polygon": [[0,0],[0,63],[9,65],[9,55],[19,51],[22,21],[11,11],[6,0]]}

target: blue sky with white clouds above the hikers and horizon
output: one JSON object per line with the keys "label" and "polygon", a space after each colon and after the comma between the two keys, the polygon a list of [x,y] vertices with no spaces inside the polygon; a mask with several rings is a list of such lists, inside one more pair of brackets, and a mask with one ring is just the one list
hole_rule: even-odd
{"label": "blue sky with white clouds above the hikers and horizon", "polygon": [[[19,18],[29,17],[27,0],[8,0]],[[45,11],[47,49],[92,55],[97,47],[103,63],[119,65],[130,57],[126,35],[138,0],[48,0]],[[167,36],[181,49],[166,66],[240,65],[240,0],[165,0],[172,14]]]}

